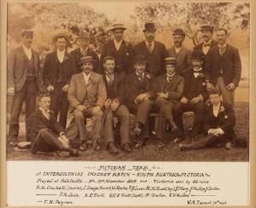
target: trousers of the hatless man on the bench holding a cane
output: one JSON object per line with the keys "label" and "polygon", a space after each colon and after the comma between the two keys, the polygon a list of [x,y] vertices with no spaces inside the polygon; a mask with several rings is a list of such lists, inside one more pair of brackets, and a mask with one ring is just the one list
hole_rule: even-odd
{"label": "trousers of the hatless man on the bench holding a cane", "polygon": [[125,143],[130,143],[130,113],[125,105],[120,105],[115,112],[112,112],[110,109],[108,109],[103,131],[106,144],[108,145],[109,142],[114,142],[113,116],[119,119],[119,133],[121,138],[121,145]]}

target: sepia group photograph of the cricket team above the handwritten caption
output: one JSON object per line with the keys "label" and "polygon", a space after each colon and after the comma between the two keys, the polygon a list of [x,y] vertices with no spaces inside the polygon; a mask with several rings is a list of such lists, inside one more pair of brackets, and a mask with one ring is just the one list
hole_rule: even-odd
{"label": "sepia group photograph of the cricket team above the handwritten caption", "polygon": [[248,161],[250,3],[8,3],[7,159]]}

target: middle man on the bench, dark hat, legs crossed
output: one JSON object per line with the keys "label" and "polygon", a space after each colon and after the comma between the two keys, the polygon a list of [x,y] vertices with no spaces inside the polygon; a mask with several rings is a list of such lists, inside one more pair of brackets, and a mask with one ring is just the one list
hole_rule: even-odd
{"label": "middle man on the bench, dark hat, legs crossed", "polygon": [[136,147],[141,147],[149,137],[148,114],[158,109],[152,91],[154,75],[145,71],[145,57],[137,55],[133,66],[135,72],[131,72],[125,80],[125,104],[131,113],[136,114],[137,124],[134,132],[140,139]]}

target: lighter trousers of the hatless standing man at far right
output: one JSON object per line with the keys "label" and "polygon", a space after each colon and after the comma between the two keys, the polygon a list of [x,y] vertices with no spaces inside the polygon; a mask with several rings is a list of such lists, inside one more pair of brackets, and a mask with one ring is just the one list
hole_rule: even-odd
{"label": "lighter trousers of the hatless standing man at far right", "polygon": [[235,90],[227,90],[226,85],[224,84],[224,78],[218,78],[216,88],[220,90],[223,101],[229,103],[232,107],[234,107]]}

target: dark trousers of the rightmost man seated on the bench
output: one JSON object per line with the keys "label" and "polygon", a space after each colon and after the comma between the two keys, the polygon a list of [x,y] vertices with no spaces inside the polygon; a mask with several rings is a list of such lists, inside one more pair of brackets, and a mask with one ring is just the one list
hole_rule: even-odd
{"label": "dark trousers of the rightmost man seated on the bench", "polygon": [[203,130],[206,104],[202,101],[196,104],[184,104],[182,102],[175,103],[173,107],[174,120],[177,124],[177,127],[179,127],[181,130],[183,130],[183,113],[187,111],[195,112],[195,119],[191,132],[191,136],[195,137],[201,134],[201,131]]}

